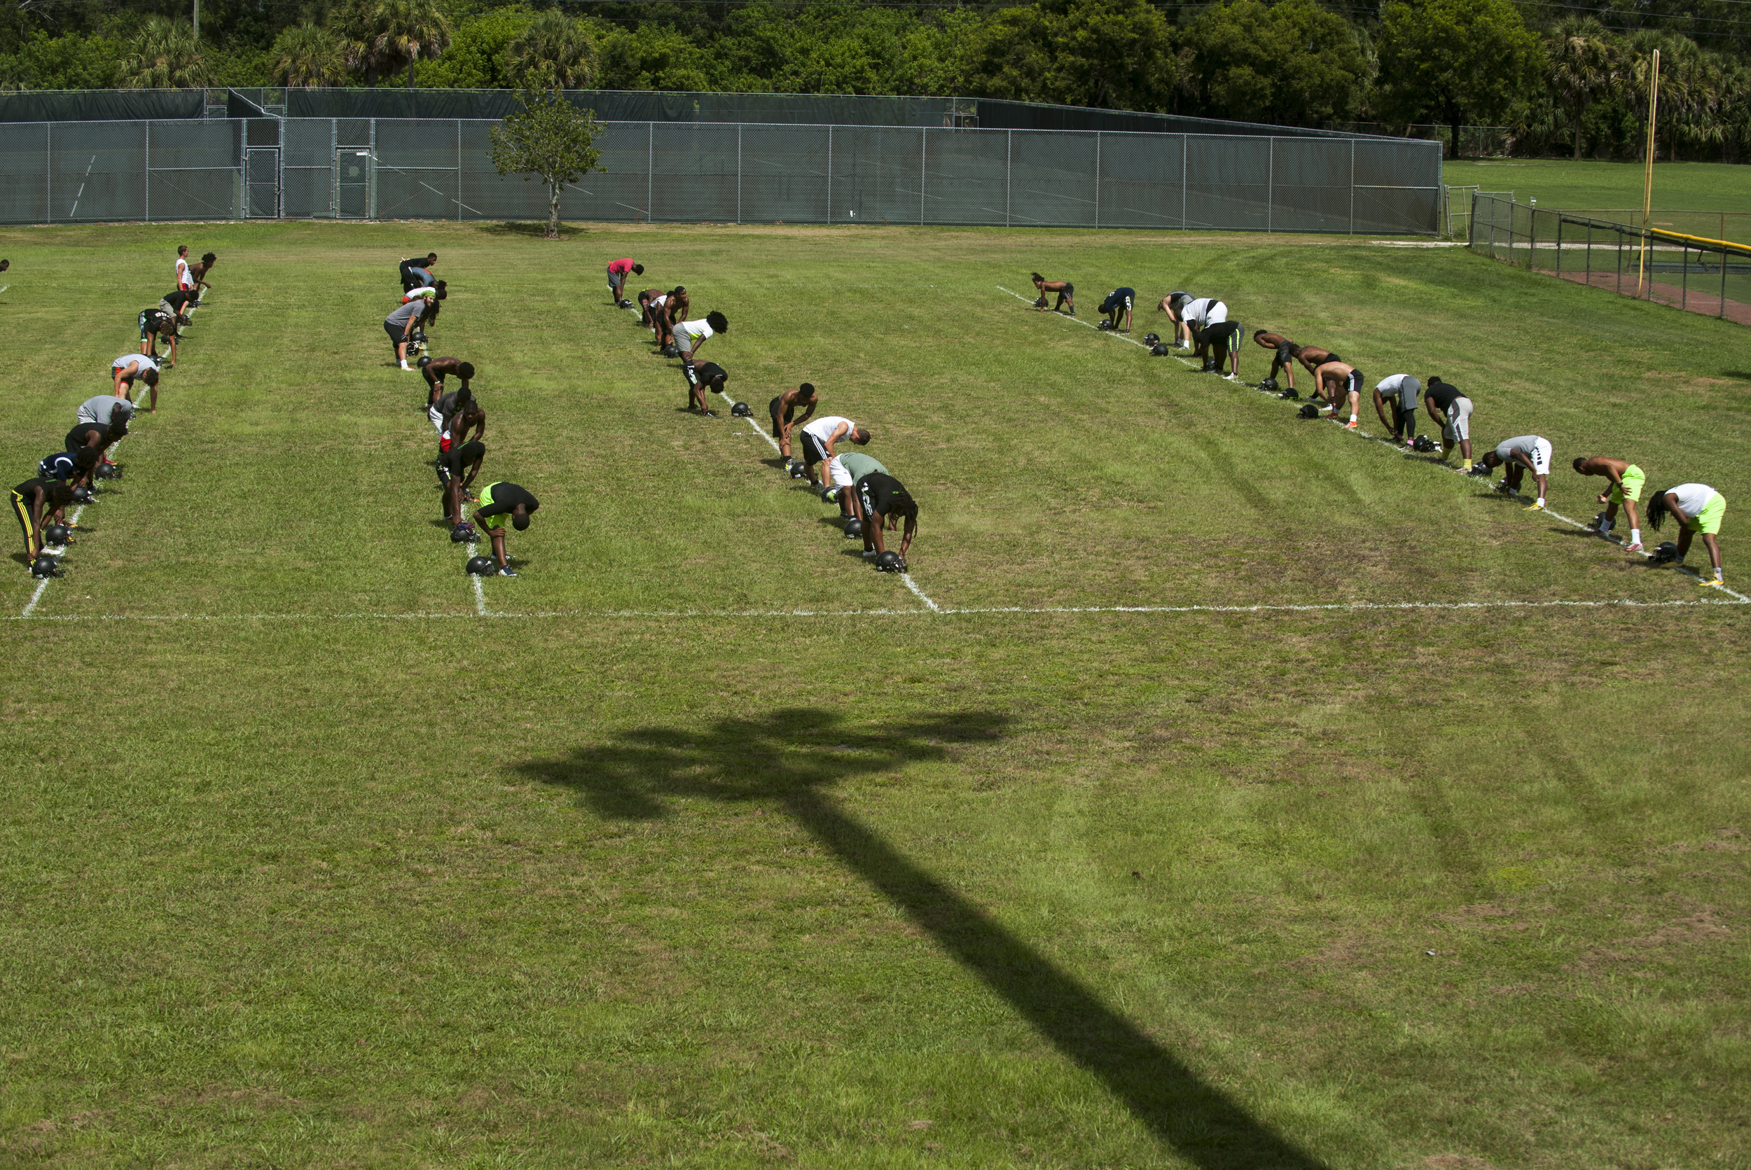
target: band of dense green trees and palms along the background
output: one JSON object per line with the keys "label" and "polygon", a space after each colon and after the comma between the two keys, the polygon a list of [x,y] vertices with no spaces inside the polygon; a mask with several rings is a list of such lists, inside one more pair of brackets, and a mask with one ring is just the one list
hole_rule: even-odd
{"label": "band of dense green trees and palms along the background", "polygon": [[[1751,158],[1751,4],[1606,0],[208,0],[16,9],[0,88],[436,86],[942,95],[1285,126],[1504,126],[1516,152]],[[1740,12],[1746,9],[1747,12]],[[1529,16],[1530,14],[1530,16]],[[1555,19],[1548,19],[1555,18]],[[1744,28],[1740,28],[1744,25]]]}

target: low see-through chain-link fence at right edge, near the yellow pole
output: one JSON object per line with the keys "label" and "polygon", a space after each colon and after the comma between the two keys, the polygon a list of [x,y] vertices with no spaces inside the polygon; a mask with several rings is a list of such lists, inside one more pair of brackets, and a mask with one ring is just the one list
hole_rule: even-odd
{"label": "low see-through chain-link fence at right edge, near the yellow pole", "polygon": [[1751,324],[1751,247],[1473,196],[1471,238],[1527,271]]}

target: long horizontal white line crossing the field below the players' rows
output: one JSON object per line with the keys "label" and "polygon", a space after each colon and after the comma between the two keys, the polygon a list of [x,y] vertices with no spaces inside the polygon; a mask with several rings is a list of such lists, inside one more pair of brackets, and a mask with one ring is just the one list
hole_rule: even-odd
{"label": "long horizontal white line crossing the field below the players' rows", "polygon": [[1049,613],[1368,613],[1394,610],[1697,610],[1739,608],[1742,601],[1343,601],[1317,606],[967,606],[933,610],[541,610],[532,613],[68,613],[46,618],[9,617],[7,622],[424,622],[441,618],[854,618],[854,617],[961,617]]}

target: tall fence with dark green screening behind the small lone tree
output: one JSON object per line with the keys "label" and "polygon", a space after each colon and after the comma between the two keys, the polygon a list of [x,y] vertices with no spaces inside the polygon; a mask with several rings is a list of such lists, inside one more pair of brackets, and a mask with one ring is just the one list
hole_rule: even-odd
{"label": "tall fence with dark green screening behind the small lone tree", "polygon": [[[487,119],[0,124],[0,221],[541,219]],[[1439,147],[1382,138],[608,123],[567,219],[1438,233]]]}

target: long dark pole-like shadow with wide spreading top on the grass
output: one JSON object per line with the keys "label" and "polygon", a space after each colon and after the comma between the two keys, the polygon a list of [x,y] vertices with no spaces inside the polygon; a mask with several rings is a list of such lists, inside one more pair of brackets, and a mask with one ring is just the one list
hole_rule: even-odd
{"label": "long dark pole-like shadow with wide spreading top on the grass", "polygon": [[960,711],[856,730],[837,713],[795,708],[702,730],[644,727],[518,771],[573,788],[599,814],[622,820],[664,816],[664,795],[777,802],[1180,1156],[1210,1170],[1322,1166],[826,792],[840,779],[947,758],[949,744],[998,739],[1007,725],[1003,715]]}

